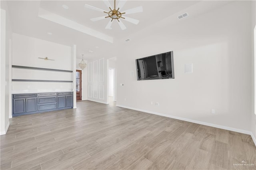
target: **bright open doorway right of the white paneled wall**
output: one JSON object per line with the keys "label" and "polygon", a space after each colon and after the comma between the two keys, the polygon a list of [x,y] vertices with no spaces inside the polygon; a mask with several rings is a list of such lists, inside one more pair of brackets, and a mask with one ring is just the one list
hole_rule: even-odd
{"label": "bright open doorway right of the white paneled wall", "polygon": [[116,57],[108,59],[108,104],[116,103]]}

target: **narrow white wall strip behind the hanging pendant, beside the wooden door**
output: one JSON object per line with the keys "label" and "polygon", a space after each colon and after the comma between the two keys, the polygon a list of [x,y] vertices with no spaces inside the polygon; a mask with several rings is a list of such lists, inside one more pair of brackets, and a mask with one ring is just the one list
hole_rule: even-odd
{"label": "narrow white wall strip behind the hanging pendant, beside the wooden door", "polygon": [[[76,59],[76,69],[77,70],[82,70],[79,67],[79,63],[81,62],[82,59]],[[87,95],[88,95],[88,76],[87,76],[87,70],[88,70],[88,62],[84,60],[87,66],[82,70],[82,100],[87,100]]]}

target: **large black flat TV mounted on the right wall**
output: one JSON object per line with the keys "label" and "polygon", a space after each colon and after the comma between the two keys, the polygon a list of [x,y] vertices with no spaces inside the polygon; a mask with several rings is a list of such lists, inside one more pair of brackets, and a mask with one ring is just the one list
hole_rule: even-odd
{"label": "large black flat TV mounted on the right wall", "polygon": [[136,59],[137,80],[174,79],[173,51]]}

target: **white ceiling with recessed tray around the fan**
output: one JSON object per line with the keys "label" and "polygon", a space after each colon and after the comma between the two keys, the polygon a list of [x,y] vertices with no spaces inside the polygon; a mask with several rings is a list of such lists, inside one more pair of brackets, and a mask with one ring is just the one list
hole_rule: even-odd
{"label": "white ceiling with recessed tray around the fan", "polygon": [[[94,57],[102,57],[104,54],[112,54],[116,45],[120,41],[124,41],[129,38],[135,32],[142,30],[151,25],[160,23],[160,20],[168,19],[170,16],[174,16],[170,22],[170,26],[173,23],[178,22],[177,16],[188,12],[189,16],[184,18],[184,21],[190,17],[208,12],[218,6],[224,5],[224,1],[208,1],[208,3],[202,8],[202,2],[200,1],[135,1],[128,0],[123,10],[128,10],[137,6],[143,7],[143,12],[136,14],[128,14],[130,18],[140,20],[138,25],[130,22],[123,21],[126,30],[121,30],[116,21],[113,21],[112,30],[105,29],[106,24],[109,22],[109,18],[92,22],[90,18],[96,18],[105,16],[104,13],[90,10],[84,7],[84,4],[89,4],[97,8],[109,11],[102,0],[93,1],[8,1],[8,10],[10,13],[10,20],[12,24],[12,31],[14,33],[40,38],[50,42],[56,42],[63,45],[72,46],[77,45],[77,57],[84,54],[86,59],[92,59]],[[62,8],[65,4],[69,7],[68,10]],[[111,0],[110,4],[114,4]],[[118,4],[118,3],[117,3]],[[113,6],[113,5],[112,5]],[[98,32],[111,36],[114,39],[113,43],[106,42],[99,38],[95,38],[88,34],[84,34],[72,28],[68,28],[61,24],[46,20],[38,17],[40,8],[47,10],[48,12],[62,16],[68,20],[82,24],[88,28],[92,28]],[[190,11],[193,13],[190,13]],[[125,16],[125,15],[124,15]],[[183,21],[183,22],[184,22]],[[159,26],[160,27],[160,26]],[[51,32],[52,35],[48,35],[47,32]],[[134,41],[134,40],[133,40]],[[132,41],[131,41],[132,42]],[[89,52],[93,51],[93,52]],[[113,54],[115,55],[115,54]],[[114,57],[114,56],[111,56]]]}

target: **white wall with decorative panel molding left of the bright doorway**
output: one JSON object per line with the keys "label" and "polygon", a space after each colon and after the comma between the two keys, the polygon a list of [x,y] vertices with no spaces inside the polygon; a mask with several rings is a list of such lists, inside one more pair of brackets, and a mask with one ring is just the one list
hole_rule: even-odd
{"label": "white wall with decorative panel molding left of the bright doorway", "polygon": [[88,61],[88,100],[107,103],[107,62],[105,58]]}

